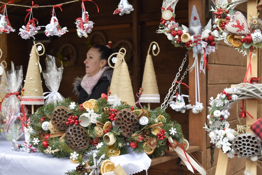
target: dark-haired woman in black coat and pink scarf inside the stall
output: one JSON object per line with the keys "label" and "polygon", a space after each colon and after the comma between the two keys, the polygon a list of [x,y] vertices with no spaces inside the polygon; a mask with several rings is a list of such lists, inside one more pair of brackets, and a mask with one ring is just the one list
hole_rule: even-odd
{"label": "dark-haired woman in black coat and pink scarf inside the stall", "polygon": [[95,45],[89,49],[84,61],[86,74],[83,79],[77,77],[73,83],[78,104],[89,99],[99,99],[102,93],[107,94],[113,75],[107,60],[113,53],[109,45]]}

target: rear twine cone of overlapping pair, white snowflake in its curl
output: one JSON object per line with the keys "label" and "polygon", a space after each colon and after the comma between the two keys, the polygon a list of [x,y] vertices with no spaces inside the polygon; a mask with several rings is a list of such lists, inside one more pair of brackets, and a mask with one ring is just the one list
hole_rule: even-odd
{"label": "rear twine cone of overlapping pair, white snowflake in its curl", "polygon": [[[123,58],[125,55],[126,51],[124,48],[121,48],[118,53],[113,53],[112,55],[109,56],[108,58],[108,64],[111,68],[114,68],[113,71],[113,76],[110,84],[109,91],[110,93],[108,94],[108,103],[110,105],[114,104],[115,101],[115,94],[118,92],[118,87],[119,87],[119,82],[120,82],[120,77],[121,77],[121,67],[123,63]],[[110,60],[112,59],[112,62],[115,63],[114,66],[110,64]]]}

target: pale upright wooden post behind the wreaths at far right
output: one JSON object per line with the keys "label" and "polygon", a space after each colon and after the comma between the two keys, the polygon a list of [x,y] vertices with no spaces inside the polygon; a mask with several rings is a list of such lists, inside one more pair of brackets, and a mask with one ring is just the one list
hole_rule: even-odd
{"label": "pale upright wooden post behind the wreaths at far right", "polygon": [[[257,14],[256,10],[257,0],[249,0],[248,1],[248,8],[247,8],[247,16],[251,14],[252,16]],[[248,20],[249,21],[249,20]],[[252,32],[252,31],[251,31]],[[256,56],[251,58],[251,66],[252,66],[252,76],[257,77],[257,49],[253,50],[253,53]],[[250,55],[247,55],[247,65],[249,63]],[[251,77],[250,71],[248,71],[247,79]],[[247,125],[250,126],[254,121],[257,120],[257,99],[247,99],[246,110],[252,115],[254,119],[250,116],[247,117]],[[251,174],[256,174],[256,161],[251,161],[250,159],[246,159],[246,170]]]}

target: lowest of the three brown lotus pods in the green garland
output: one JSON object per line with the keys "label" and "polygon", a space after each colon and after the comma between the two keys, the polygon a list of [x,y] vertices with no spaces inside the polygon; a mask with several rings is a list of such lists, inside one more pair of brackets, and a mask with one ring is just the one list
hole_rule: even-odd
{"label": "lowest of the three brown lotus pods in the green garland", "polygon": [[74,151],[81,151],[89,146],[87,131],[79,125],[67,128],[66,139],[68,140],[68,145]]}

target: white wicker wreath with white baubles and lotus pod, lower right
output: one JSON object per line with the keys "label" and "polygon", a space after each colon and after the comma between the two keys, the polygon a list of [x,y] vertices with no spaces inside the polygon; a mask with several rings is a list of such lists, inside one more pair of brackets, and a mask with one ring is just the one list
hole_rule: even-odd
{"label": "white wicker wreath with white baubles and lotus pod, lower right", "polygon": [[[257,132],[252,124],[250,129],[255,134],[239,134],[234,129],[229,128],[227,122],[230,115],[228,109],[231,105],[239,100],[249,98],[262,99],[262,84],[241,83],[234,88],[224,89],[215,99],[211,97],[209,100],[211,107],[209,107],[209,115],[207,116],[209,123],[205,124],[204,129],[209,132],[210,142],[215,144],[217,148],[221,148],[224,153],[228,154],[229,158],[238,156],[256,161],[262,155],[261,130]],[[248,112],[244,111],[244,101],[241,109],[240,117],[246,118]],[[250,115],[250,117],[252,116]],[[261,123],[259,127],[261,127]]]}

